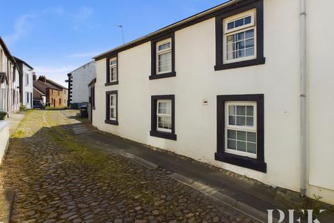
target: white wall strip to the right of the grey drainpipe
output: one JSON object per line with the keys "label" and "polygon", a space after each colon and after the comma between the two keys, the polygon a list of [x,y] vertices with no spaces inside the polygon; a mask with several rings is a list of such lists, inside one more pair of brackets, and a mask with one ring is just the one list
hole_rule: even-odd
{"label": "white wall strip to the right of the grey drainpipe", "polygon": [[331,197],[334,202],[334,118],[332,18],[333,1],[307,5],[308,75],[310,77],[310,194]]}

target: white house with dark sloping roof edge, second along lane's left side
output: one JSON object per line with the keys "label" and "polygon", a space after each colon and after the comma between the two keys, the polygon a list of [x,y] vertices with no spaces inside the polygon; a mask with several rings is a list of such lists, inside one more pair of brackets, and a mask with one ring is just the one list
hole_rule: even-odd
{"label": "white house with dark sloping roof edge, second along lane's left side", "polygon": [[21,95],[20,102],[27,109],[33,108],[33,67],[31,67],[22,59],[14,57],[15,61],[22,70],[22,74],[19,76],[19,94]]}

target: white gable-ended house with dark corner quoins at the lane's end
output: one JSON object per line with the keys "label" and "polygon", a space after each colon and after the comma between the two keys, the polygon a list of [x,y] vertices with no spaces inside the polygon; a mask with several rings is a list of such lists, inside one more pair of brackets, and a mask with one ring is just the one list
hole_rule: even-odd
{"label": "white gable-ended house with dark corner quoins at the lane's end", "polygon": [[88,102],[88,84],[96,77],[95,61],[90,61],[67,74],[68,106],[77,108],[79,103]]}

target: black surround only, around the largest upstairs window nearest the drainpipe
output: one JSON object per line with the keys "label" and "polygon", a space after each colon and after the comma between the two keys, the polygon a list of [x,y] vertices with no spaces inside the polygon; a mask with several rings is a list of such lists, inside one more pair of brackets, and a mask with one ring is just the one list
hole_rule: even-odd
{"label": "black surround only, around the largest upstairs window nearest the drainpipe", "polygon": [[[253,8],[256,8],[256,59],[223,63],[223,47],[225,47],[223,45],[223,20]],[[263,0],[253,1],[243,6],[233,5],[226,8],[225,13],[216,16],[216,66],[214,66],[214,70],[226,70],[264,64],[266,59],[263,53],[263,35]]]}

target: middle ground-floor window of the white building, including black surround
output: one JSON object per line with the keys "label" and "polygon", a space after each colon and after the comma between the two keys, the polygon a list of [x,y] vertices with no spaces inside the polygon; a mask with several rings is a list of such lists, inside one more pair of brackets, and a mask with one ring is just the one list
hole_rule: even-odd
{"label": "middle ground-floor window of the white building, including black surround", "polygon": [[150,135],[176,140],[175,95],[154,95],[151,97]]}

